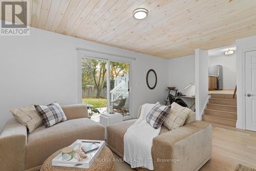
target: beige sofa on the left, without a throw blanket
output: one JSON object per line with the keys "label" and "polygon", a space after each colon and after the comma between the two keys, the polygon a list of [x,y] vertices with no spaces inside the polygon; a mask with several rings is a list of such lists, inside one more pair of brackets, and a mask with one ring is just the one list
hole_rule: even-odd
{"label": "beige sofa on the left, without a throw blanket", "polygon": [[50,155],[77,139],[104,140],[104,127],[88,119],[86,105],[62,109],[67,121],[49,128],[42,125],[30,134],[26,126],[9,120],[0,135],[0,170],[39,170]]}

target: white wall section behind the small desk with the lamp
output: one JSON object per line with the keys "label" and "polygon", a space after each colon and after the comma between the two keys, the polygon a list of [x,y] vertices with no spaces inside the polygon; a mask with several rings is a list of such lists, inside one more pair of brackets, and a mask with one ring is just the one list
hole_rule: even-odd
{"label": "white wall section behind the small desk with the lamp", "polygon": [[[195,84],[195,55],[170,59],[168,86],[174,86],[179,90],[179,92],[182,92],[182,94],[193,96],[195,95],[195,85],[184,89],[184,87],[190,83]],[[184,100],[188,106],[193,105],[195,102],[195,99],[182,98],[182,100]],[[195,106],[191,109],[194,110]]]}

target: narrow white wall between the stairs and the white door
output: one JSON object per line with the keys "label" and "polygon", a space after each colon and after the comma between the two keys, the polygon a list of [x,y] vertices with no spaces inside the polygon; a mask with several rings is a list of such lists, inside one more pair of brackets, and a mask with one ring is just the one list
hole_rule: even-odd
{"label": "narrow white wall between the stairs and the white door", "polygon": [[256,49],[256,36],[236,41],[237,44],[237,128],[245,129],[244,53]]}

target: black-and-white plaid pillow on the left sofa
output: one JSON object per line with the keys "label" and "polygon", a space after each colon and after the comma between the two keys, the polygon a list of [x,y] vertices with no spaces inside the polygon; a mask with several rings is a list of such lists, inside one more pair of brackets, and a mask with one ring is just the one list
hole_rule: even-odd
{"label": "black-and-white plaid pillow on the left sofa", "polygon": [[44,122],[46,128],[67,120],[65,113],[56,102],[47,106],[35,105],[35,109],[42,118],[42,122]]}

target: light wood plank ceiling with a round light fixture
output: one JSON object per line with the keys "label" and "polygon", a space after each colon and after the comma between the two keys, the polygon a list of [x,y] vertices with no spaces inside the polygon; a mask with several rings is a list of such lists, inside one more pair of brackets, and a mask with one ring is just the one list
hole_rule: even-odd
{"label": "light wood plank ceiling with a round light fixture", "polygon": [[31,0],[30,11],[32,27],[166,59],[256,34],[254,0]]}

